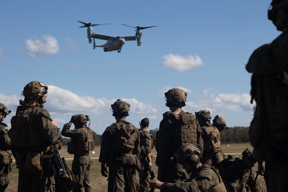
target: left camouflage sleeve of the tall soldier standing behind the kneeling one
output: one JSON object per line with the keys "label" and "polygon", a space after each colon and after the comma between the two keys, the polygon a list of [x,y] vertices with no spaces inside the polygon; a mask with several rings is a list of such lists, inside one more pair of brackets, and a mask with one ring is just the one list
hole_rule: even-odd
{"label": "left camouflage sleeve of the tall soldier standing behind the kneeling one", "polygon": [[170,138],[168,135],[167,128],[171,121],[168,118],[162,119],[159,125],[159,130],[157,134],[157,156],[156,156],[156,166],[158,167],[165,167],[166,166],[166,160],[168,156],[169,151],[169,145],[170,145]]}

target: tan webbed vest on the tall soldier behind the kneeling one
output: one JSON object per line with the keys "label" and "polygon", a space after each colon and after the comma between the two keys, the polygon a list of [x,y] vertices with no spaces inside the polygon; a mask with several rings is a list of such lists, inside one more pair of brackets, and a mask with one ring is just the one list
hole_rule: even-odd
{"label": "tan webbed vest on the tall soldier behind the kneeling one", "polygon": [[192,113],[176,114],[174,112],[168,114],[169,117],[174,117],[177,121],[176,146],[182,146],[186,143],[194,143],[197,145],[197,125],[195,116]]}

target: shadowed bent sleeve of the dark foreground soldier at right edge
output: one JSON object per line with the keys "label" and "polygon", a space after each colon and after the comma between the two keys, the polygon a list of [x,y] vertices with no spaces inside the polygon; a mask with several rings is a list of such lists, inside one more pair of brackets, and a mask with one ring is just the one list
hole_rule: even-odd
{"label": "shadowed bent sleeve of the dark foreground soldier at right edge", "polygon": [[288,70],[288,31],[284,31],[272,43],[256,49],[246,65],[249,73],[272,75]]}

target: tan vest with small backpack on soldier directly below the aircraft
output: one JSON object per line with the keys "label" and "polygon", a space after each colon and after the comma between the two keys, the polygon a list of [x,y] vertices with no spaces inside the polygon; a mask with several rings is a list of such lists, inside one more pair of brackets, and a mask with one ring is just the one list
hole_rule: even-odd
{"label": "tan vest with small backpack on soldier directly below the aircraft", "polygon": [[112,140],[111,149],[122,154],[131,154],[134,149],[134,143],[138,137],[138,130],[131,123],[116,122],[115,132],[117,130],[116,140]]}

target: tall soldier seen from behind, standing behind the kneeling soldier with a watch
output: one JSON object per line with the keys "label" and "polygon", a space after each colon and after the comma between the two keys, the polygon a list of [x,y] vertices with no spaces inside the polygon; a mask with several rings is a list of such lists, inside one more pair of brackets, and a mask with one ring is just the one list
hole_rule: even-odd
{"label": "tall soldier seen from behind, standing behind the kneeling soldier with a watch", "polygon": [[[182,107],[186,106],[187,93],[179,88],[170,89],[165,93],[168,113],[160,122],[159,131],[156,134],[158,166],[157,179],[176,183],[188,179],[188,174],[177,162],[170,161],[177,149],[186,143],[194,143],[199,146],[202,153],[202,130],[192,113],[185,113]],[[163,190],[161,190],[163,191]]]}

